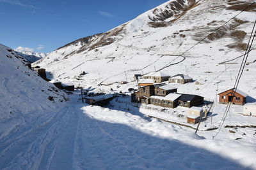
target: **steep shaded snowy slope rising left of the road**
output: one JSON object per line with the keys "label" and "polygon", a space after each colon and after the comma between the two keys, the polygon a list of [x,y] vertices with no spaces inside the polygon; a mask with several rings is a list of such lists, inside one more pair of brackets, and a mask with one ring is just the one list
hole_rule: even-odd
{"label": "steep shaded snowy slope rising left of the road", "polygon": [[0,120],[36,115],[65,101],[65,93],[29,69],[28,63],[19,53],[0,44]]}

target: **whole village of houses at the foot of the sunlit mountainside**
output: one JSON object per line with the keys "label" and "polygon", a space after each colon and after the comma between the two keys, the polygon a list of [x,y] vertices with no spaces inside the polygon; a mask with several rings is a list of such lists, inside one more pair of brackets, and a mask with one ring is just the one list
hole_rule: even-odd
{"label": "whole village of houses at the foot of the sunlit mountainside", "polygon": [[[49,83],[52,83],[58,89],[66,90],[67,92],[75,91],[73,83],[61,83],[59,80],[49,80],[45,69],[39,66],[32,67],[32,69],[45,81],[49,81]],[[207,100],[205,96],[179,92],[177,85],[184,85],[186,83],[199,84],[198,81],[193,80],[188,75],[175,74],[174,76],[170,76],[162,72],[153,72],[145,75],[134,74],[134,82],[136,82],[136,87],[138,88],[130,88],[124,93],[113,92],[112,89],[112,92],[109,94],[90,92],[90,90],[81,87],[76,87],[76,89],[80,90],[79,96],[81,96],[82,103],[106,106],[117,97],[115,99],[117,103],[125,103],[132,107],[157,111],[154,114],[148,113],[148,117],[157,118],[173,124],[185,125],[194,129],[196,126],[193,125],[199,125],[200,122],[205,122],[207,118],[214,116],[212,115],[213,100]],[[127,81],[120,82],[121,85],[126,83]],[[239,89],[227,89],[218,93],[218,103],[236,104],[243,107],[243,111],[240,111],[239,114],[256,117],[256,103],[247,102],[246,97],[248,97],[248,94]],[[170,115],[174,115],[174,117]],[[189,124],[191,125],[189,126]],[[216,127],[209,126],[203,128],[203,130],[205,129],[214,130]]]}

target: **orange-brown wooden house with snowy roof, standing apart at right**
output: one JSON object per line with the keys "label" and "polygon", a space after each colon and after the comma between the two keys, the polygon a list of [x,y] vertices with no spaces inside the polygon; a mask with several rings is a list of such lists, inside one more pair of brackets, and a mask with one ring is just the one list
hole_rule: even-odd
{"label": "orange-brown wooden house with snowy roof, standing apart at right", "polygon": [[220,96],[219,103],[221,104],[227,104],[231,102],[232,104],[239,105],[243,105],[244,103],[246,103],[246,96],[248,96],[247,94],[238,89],[236,89],[235,92],[235,88],[228,89],[218,95]]}

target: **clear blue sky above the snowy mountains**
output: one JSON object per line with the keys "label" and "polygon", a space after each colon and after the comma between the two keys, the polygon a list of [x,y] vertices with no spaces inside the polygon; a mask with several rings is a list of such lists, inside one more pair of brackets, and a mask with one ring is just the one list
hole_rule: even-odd
{"label": "clear blue sky above the snowy mountains", "polygon": [[0,0],[0,43],[52,52],[106,32],[168,0]]}

